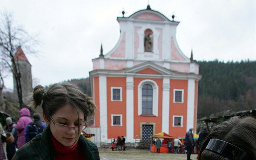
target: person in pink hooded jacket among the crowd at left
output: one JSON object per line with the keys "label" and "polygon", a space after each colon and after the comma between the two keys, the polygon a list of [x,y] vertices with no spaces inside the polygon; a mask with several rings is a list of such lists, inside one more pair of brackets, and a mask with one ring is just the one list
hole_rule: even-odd
{"label": "person in pink hooded jacket among the crowd at left", "polygon": [[28,108],[21,108],[20,114],[21,114],[21,117],[18,120],[17,124],[12,125],[12,127],[18,131],[18,140],[17,140],[17,148],[18,149],[21,148],[21,146],[26,143],[25,142],[26,127],[27,127],[27,124],[32,122]]}

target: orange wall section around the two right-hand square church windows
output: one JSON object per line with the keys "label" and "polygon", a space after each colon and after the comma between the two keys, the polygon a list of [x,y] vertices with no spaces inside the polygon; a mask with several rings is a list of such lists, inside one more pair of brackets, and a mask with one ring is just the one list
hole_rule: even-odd
{"label": "orange wall section around the two right-hand square church windows", "polygon": [[[170,127],[169,134],[174,137],[183,137],[183,133],[186,133],[187,128],[187,80],[171,80],[170,81]],[[173,90],[184,89],[183,103],[173,102]],[[183,116],[182,127],[173,127],[173,116]]]}

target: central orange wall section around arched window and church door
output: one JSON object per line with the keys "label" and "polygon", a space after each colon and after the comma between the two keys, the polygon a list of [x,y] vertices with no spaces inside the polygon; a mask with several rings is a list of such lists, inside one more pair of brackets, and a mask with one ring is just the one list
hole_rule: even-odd
{"label": "central orange wall section around arched window and church door", "polygon": [[161,132],[162,128],[162,82],[163,79],[147,78],[155,81],[158,85],[158,116],[139,116],[138,115],[138,85],[145,78],[134,78],[134,138],[140,139],[140,123],[155,123],[155,133]]}

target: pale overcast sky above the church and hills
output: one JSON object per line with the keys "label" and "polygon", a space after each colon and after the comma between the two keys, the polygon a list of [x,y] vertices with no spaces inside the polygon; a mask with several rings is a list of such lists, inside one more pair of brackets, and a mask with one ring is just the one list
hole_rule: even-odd
{"label": "pale overcast sky above the church and hills", "polygon": [[[175,15],[181,51],[195,60],[256,60],[255,0],[0,0],[0,10],[37,34],[39,55],[26,56],[36,84],[89,77],[93,58],[109,52],[119,39],[118,16],[138,10]],[[7,88],[12,79],[5,79]]]}

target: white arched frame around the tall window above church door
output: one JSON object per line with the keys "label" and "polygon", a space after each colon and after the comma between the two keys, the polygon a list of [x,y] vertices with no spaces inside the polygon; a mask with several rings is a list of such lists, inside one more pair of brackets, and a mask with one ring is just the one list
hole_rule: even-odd
{"label": "white arched frame around the tall window above church door", "polygon": [[[153,108],[152,113],[154,116],[158,116],[158,86],[155,81],[145,79],[139,83],[138,86],[138,115],[142,115],[142,87],[144,84],[150,84],[153,89]],[[144,115],[144,114],[143,114]],[[147,115],[147,114],[145,114]]]}

